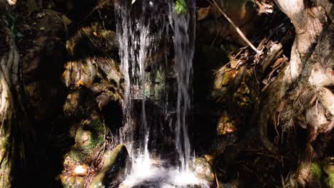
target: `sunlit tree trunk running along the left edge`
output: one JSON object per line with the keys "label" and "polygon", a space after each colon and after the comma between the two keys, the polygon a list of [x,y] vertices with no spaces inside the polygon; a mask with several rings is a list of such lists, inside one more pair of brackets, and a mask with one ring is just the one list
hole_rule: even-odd
{"label": "sunlit tree trunk running along the left edge", "polygon": [[19,53],[11,30],[0,19],[0,187],[11,187],[14,166],[15,106],[13,90],[18,85]]}

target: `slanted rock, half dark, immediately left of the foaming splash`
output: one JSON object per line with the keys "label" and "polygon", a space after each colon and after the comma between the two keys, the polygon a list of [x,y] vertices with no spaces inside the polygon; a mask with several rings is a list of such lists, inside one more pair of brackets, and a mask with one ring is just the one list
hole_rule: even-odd
{"label": "slanted rock, half dark, immediately left of the foaming splash", "polygon": [[106,151],[103,154],[103,165],[93,178],[89,188],[118,187],[125,175],[126,160],[128,160],[128,151],[124,145],[118,145],[113,150]]}

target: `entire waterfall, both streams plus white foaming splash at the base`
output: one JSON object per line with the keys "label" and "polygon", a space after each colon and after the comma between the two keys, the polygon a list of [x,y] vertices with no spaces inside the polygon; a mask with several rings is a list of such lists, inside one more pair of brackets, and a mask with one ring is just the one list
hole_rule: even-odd
{"label": "entire waterfall, both streams plus white foaming splash at the base", "polygon": [[[175,0],[142,0],[133,6],[128,1],[116,1],[119,55],[124,73],[124,126],[120,137],[132,161],[131,171],[122,184],[124,187],[189,187],[195,184],[207,187],[206,182],[196,178],[189,169],[189,162],[194,157],[188,136],[195,46],[194,7],[195,1],[189,0],[187,14],[178,15]],[[171,34],[173,37],[168,38]],[[173,51],[166,48],[168,45],[173,46]],[[156,58],[161,54],[162,58]],[[168,61],[170,56],[173,61]],[[175,87],[173,81],[168,84],[173,75]],[[168,123],[153,120],[158,128],[149,123],[152,120],[148,120],[146,114],[147,100],[154,106],[150,115],[160,111],[162,119],[171,124],[169,135],[174,136],[173,149],[168,151],[176,152],[178,162],[173,162],[173,157],[166,157],[171,156],[168,152],[158,152],[158,147],[152,146],[160,142],[159,137],[168,137],[168,134],[163,135],[168,132],[165,125]],[[138,101],[141,101],[140,112],[136,110]]]}

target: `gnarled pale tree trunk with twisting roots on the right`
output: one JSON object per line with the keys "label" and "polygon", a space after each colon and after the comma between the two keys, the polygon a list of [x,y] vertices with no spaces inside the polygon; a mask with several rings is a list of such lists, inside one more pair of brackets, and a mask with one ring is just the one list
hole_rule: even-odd
{"label": "gnarled pale tree trunk with twisting roots on the right", "polygon": [[[277,117],[280,124],[289,121],[285,125],[306,128],[308,138],[305,147],[300,148],[295,177],[303,187],[307,184],[319,187],[320,181],[313,177],[312,168],[323,156],[311,144],[320,133],[326,134],[334,126],[334,95],[330,90],[334,80],[333,3],[328,0],[275,2],[292,21],[296,36],[290,63],[263,95],[263,109],[258,118],[260,137],[268,151],[278,152],[267,135],[270,117],[275,113],[280,113]],[[297,117],[304,121],[298,122]]]}

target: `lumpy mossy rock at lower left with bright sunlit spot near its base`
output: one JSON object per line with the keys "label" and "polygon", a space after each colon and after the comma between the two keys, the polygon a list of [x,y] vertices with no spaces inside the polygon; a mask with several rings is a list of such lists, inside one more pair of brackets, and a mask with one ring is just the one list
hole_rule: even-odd
{"label": "lumpy mossy rock at lower left with bright sunlit spot near its base", "polygon": [[102,151],[108,127],[103,123],[93,93],[87,88],[69,93],[64,113],[75,144],[64,156],[64,170],[60,177],[64,187],[76,187],[81,179],[86,181],[87,167],[91,167]]}

